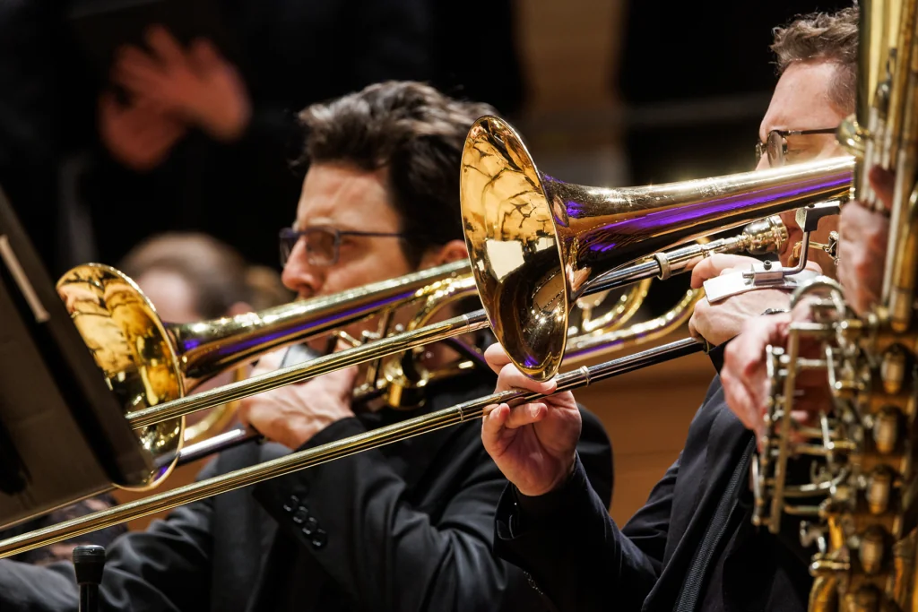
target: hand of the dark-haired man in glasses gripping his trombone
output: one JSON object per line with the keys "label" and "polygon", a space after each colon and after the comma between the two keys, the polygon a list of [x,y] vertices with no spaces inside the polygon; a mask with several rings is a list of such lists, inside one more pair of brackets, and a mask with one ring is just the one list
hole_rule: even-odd
{"label": "hand of the dark-haired man in glasses gripping his trombone", "polygon": [[[252,369],[252,376],[276,370],[284,351],[265,355]],[[241,401],[239,419],[268,440],[294,450],[319,431],[342,418],[353,417],[351,399],[357,376],[352,366],[327,373],[306,383],[287,384]]]}

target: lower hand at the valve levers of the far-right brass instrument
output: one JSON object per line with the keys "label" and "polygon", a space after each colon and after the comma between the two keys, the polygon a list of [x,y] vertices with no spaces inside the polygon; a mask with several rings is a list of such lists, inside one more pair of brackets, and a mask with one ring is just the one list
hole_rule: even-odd
{"label": "lower hand at the valve levers of the far-right brass instrument", "polygon": [[[801,302],[787,314],[750,318],[723,352],[720,378],[724,400],[744,426],[756,432],[758,440],[765,433],[765,415],[772,396],[766,348],[768,345],[786,348],[791,322],[809,320],[812,320],[809,301]],[[801,357],[816,357],[818,351],[818,340],[800,339]],[[830,406],[825,372],[799,372],[796,383],[800,395],[794,397],[791,417],[800,423],[809,423],[814,415]]]}

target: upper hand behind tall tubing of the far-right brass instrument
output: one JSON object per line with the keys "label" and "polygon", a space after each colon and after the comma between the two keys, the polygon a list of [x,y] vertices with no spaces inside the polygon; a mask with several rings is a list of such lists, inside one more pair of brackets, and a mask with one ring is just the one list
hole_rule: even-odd
{"label": "upper hand behind tall tubing of the far-right brass instrument", "polygon": [[[890,210],[894,175],[874,166],[868,178],[879,202]],[[838,221],[838,280],[845,288],[845,301],[859,315],[879,302],[889,234],[889,218],[869,211],[856,200],[842,206]]]}

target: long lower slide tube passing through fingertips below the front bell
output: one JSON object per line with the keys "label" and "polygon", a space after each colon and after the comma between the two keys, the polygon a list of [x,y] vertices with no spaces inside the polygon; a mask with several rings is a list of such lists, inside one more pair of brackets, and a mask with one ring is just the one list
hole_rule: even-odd
{"label": "long lower slide tube passing through fingertips below the front bell", "polygon": [[[635,353],[621,359],[603,362],[589,368],[583,367],[574,372],[559,374],[557,392],[576,389],[581,386],[610,378],[622,373],[677,359],[693,352],[701,351],[703,345],[695,339],[681,339],[649,351]],[[383,428],[367,431],[351,438],[336,440],[314,449],[294,452],[270,462],[259,463],[236,472],[221,474],[193,484],[185,484],[172,491],[151,495],[137,501],[122,504],[95,512],[84,517],[77,517],[56,525],[36,529],[14,538],[0,541],[0,558],[6,558],[21,552],[32,551],[41,546],[67,540],[97,529],[106,529],[134,518],[147,517],[151,514],[169,510],[239,489],[244,486],[260,483],[264,480],[283,476],[308,467],[341,459],[361,451],[369,451],[399,440],[449,427],[458,423],[482,417],[485,408],[493,404],[530,401],[543,397],[526,391],[505,391],[471,400],[432,412],[421,417],[395,423]]]}

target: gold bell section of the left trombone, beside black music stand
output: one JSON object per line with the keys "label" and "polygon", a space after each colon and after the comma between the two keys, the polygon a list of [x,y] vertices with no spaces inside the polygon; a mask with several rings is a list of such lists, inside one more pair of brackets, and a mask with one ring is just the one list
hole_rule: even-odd
{"label": "gold bell section of the left trombone, beside black music stand", "polygon": [[[265,352],[413,305],[427,298],[425,288],[456,279],[461,283],[463,278],[465,294],[474,293],[468,286],[468,262],[458,261],[338,295],[181,325],[163,323],[137,284],[106,265],[77,266],[57,286],[73,324],[129,417],[168,405],[210,377]],[[184,414],[135,425],[141,448],[158,467],[143,482],[115,485],[145,491],[161,484],[186,441],[200,440],[229,423],[233,401],[207,406],[219,409],[192,436],[185,435]]]}

